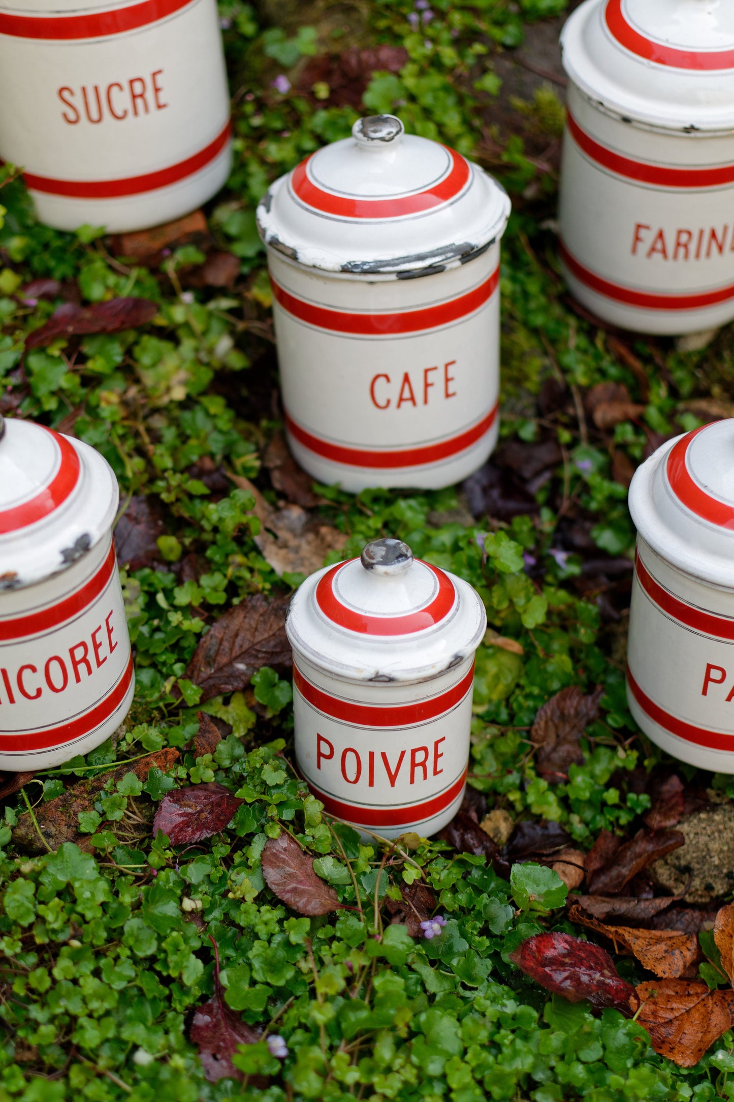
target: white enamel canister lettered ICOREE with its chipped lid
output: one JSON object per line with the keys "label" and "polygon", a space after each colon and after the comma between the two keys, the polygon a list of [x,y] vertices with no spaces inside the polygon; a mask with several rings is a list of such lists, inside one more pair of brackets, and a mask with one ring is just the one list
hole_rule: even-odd
{"label": "white enamel canister lettered ICOREE with its chipped lid", "polygon": [[98,746],[132,701],[119,491],[88,444],[18,419],[0,433],[0,769],[45,769]]}

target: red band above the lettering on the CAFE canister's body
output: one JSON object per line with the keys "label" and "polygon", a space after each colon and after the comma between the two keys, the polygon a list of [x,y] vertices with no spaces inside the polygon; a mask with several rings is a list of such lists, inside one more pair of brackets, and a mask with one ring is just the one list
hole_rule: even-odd
{"label": "red band above the lettering on the CAFE canister's body", "polygon": [[497,267],[489,279],[475,287],[473,291],[438,303],[436,306],[421,306],[418,310],[406,310],[399,314],[352,314],[342,310],[329,310],[327,306],[315,306],[310,302],[297,299],[289,291],[280,287],[271,276],[271,284],[276,301],[287,310],[293,317],[320,329],[331,329],[335,333],[353,333],[360,336],[392,336],[398,333],[418,333],[421,329],[435,329],[439,325],[449,325],[461,317],[472,314],[492,298],[500,282]]}

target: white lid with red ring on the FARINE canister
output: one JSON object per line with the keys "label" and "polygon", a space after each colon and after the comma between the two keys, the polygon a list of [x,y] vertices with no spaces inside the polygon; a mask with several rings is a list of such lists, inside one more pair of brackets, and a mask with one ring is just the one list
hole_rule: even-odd
{"label": "white lid with red ring on the FARINE canister", "polygon": [[561,32],[563,66],[591,99],[675,130],[734,125],[732,0],[587,0]]}

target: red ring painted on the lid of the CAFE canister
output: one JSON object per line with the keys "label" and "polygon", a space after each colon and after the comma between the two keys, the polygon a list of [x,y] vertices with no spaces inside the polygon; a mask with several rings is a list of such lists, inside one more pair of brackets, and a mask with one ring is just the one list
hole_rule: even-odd
{"label": "red ring painted on the lid of the CAFE canister", "polygon": [[454,153],[448,145],[445,145],[443,149],[449,154],[451,164],[448,175],[437,184],[432,184],[423,192],[416,192],[414,195],[403,195],[391,199],[370,199],[363,196],[349,197],[326,192],[318,184],[315,184],[308,175],[308,163],[316,155],[315,153],[311,153],[293,170],[291,187],[306,206],[340,218],[402,218],[410,214],[420,214],[456,198],[469,180],[469,162],[460,153]]}

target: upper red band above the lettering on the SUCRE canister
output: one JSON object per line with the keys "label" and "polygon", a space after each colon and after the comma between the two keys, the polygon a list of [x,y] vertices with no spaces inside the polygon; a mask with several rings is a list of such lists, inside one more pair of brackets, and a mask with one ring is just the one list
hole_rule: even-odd
{"label": "upper red band above the lettering on the SUCRE canister", "polygon": [[136,31],[173,15],[189,3],[191,0],[143,0],[117,11],[90,12],[87,15],[9,15],[0,12],[0,34],[54,42],[101,39],[108,34]]}

